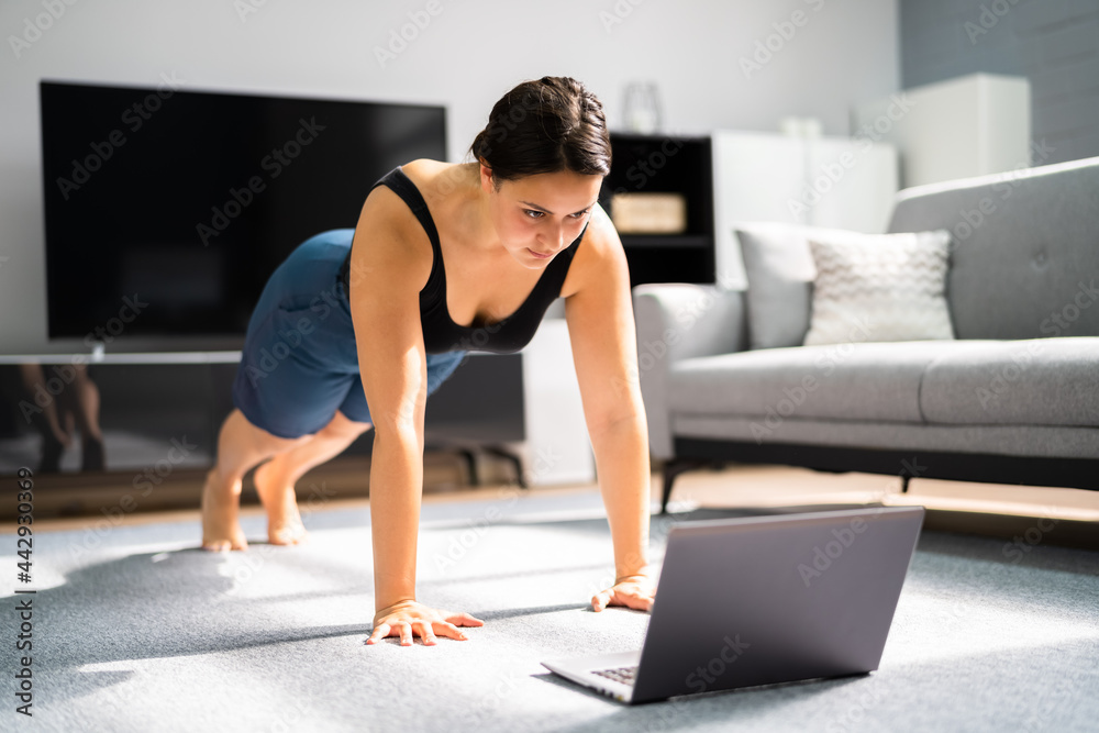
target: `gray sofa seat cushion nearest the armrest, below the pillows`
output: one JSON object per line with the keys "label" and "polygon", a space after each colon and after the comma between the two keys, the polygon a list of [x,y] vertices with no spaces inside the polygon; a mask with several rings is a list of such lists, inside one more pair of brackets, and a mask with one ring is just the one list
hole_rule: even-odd
{"label": "gray sofa seat cushion nearest the armrest, below the pillows", "polygon": [[937,358],[985,342],[920,341],[796,346],[679,362],[674,413],[922,423],[920,382]]}

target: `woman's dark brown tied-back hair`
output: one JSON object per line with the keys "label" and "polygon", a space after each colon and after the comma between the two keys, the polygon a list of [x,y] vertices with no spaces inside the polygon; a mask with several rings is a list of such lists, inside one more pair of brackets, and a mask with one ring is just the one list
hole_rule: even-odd
{"label": "woman's dark brown tied-back hair", "polygon": [[543,173],[606,176],[611,170],[602,102],[570,77],[544,76],[509,91],[469,152],[492,169],[497,187]]}

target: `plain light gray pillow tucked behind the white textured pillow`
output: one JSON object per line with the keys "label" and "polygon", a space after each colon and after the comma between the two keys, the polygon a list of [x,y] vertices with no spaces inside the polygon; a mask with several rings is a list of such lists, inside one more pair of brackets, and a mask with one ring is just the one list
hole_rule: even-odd
{"label": "plain light gray pillow tucked behind the white textured pillow", "polygon": [[809,238],[839,242],[852,232],[779,222],[745,222],[734,231],[748,281],[748,347],[800,346],[817,277]]}

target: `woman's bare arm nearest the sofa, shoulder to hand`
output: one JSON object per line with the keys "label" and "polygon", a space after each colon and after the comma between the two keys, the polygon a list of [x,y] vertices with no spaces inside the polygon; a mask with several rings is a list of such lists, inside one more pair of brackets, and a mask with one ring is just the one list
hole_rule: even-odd
{"label": "woman's bare arm nearest the sofa, shoulder to hand", "polygon": [[591,606],[647,611],[656,591],[648,565],[648,425],[625,253],[598,206],[569,269],[576,276],[565,299],[569,342],[614,543],[614,585]]}

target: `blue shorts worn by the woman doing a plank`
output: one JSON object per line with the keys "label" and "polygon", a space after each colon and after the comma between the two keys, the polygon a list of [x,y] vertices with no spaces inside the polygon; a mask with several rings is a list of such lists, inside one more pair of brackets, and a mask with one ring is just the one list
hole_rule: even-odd
{"label": "blue shorts worn by the woman doing a plank", "polygon": [[[332,230],[298,245],[271,274],[252,312],[233,404],[273,435],[315,433],[336,410],[355,422],[373,422],[351,304],[337,278],[354,233]],[[426,355],[429,395],[464,357],[460,351]]]}

